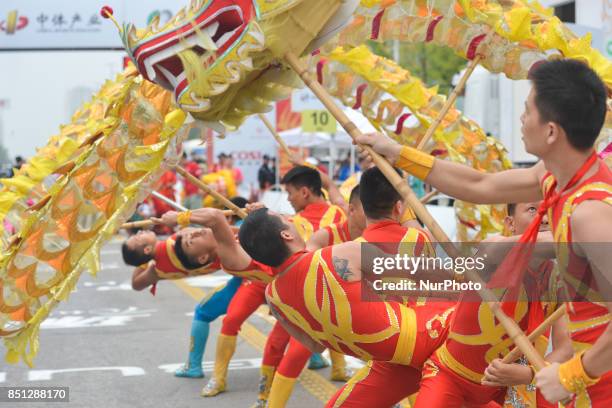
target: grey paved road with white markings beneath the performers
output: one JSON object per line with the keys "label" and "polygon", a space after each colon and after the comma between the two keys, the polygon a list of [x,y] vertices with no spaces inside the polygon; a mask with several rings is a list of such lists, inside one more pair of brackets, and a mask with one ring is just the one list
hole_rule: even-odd
{"label": "grey paved road with white markings beneath the performers", "polygon": [[[99,276],[82,276],[76,292],[43,324],[35,366],[0,363],[0,386],[68,386],[70,402],[0,403],[0,407],[239,408],[254,402],[261,350],[271,328],[263,311],[243,327],[230,366],[228,392],[205,399],[200,397],[205,380],[172,374],[187,357],[195,299],[222,283],[226,275],[163,282],[154,297],[132,291],[131,270],[121,261],[119,240],[102,250],[101,260]],[[220,323],[219,319],[211,326],[205,354],[207,376]],[[328,369],[305,370],[288,406],[322,406],[339,385],[328,382],[328,376]]]}

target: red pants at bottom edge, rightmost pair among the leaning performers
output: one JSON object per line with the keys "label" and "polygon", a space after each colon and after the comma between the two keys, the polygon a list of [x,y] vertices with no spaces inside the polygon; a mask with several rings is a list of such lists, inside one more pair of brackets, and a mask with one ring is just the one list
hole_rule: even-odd
{"label": "red pants at bottom edge, rightmost pair among the leaning performers", "polygon": [[503,404],[505,396],[506,388],[476,384],[430,360],[423,367],[415,408],[494,408]]}

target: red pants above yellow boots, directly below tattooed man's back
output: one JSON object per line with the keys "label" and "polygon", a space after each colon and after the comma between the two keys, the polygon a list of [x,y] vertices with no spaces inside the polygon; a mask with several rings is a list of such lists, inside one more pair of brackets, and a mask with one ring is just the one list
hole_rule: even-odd
{"label": "red pants above yellow boots, directly below tattooed man's back", "polygon": [[[285,351],[286,349],[286,351]],[[262,365],[276,367],[276,372],[297,378],[310,358],[311,351],[276,322],[266,340]]]}

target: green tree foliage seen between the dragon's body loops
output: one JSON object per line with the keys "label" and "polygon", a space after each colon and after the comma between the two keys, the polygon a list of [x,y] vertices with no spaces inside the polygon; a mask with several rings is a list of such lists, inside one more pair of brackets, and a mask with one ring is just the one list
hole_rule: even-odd
{"label": "green tree foliage seen between the dragon's body loops", "polygon": [[[382,57],[393,59],[393,41],[370,41],[370,49]],[[439,86],[439,92],[448,94],[453,76],[465,68],[467,61],[448,47],[435,44],[399,44],[399,65],[419,77],[427,86]]]}

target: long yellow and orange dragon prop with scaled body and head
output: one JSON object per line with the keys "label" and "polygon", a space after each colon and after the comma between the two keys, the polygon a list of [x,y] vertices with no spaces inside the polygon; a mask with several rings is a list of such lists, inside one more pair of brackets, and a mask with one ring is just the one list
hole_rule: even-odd
{"label": "long yellow and orange dragon prop with scaled body and head", "polygon": [[[176,159],[187,114],[222,130],[269,110],[300,84],[286,52],[306,55],[332,94],[409,144],[445,98],[373,55],[362,46],[367,39],[449,46],[516,79],[538,61],[577,58],[612,87],[612,65],[590,39],[575,38],[535,1],[193,0],[162,27],[117,26],[135,68],[105,84],[15,178],[3,180],[0,218],[18,231],[0,234],[0,335],[10,362],[32,363],[40,323],[84,269],[98,271],[101,245]],[[408,115],[417,126],[404,126]],[[510,166],[503,147],[456,109],[426,149],[483,171]],[[460,219],[478,225],[478,237],[499,228],[499,209],[464,208]]]}

